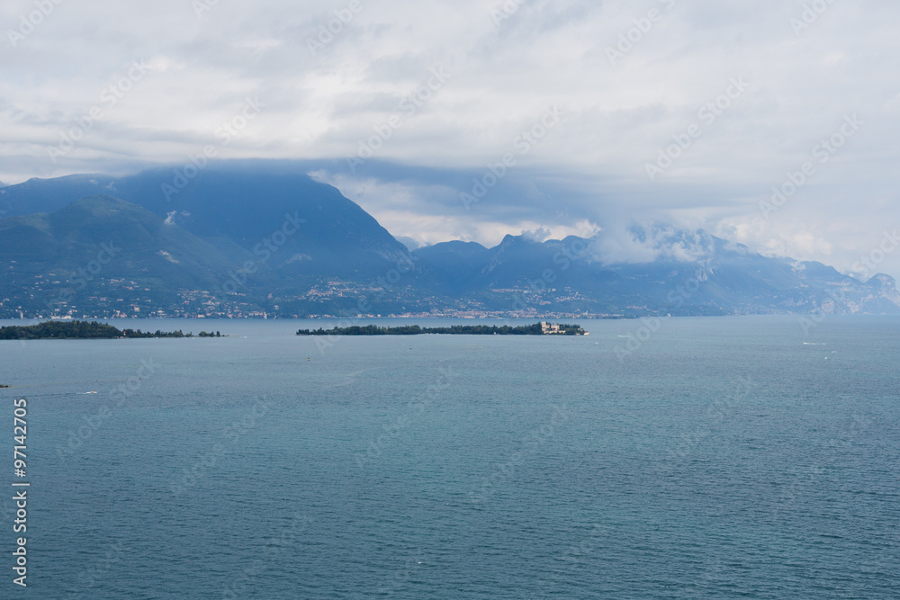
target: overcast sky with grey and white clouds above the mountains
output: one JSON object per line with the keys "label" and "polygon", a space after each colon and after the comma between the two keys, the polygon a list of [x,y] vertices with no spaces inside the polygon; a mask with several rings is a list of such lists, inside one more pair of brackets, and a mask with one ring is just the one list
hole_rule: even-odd
{"label": "overcast sky with grey and white clouds above the mountains", "polygon": [[[291,159],[397,237],[900,279],[894,0],[7,0],[0,181]],[[862,261],[865,258],[868,261]]]}

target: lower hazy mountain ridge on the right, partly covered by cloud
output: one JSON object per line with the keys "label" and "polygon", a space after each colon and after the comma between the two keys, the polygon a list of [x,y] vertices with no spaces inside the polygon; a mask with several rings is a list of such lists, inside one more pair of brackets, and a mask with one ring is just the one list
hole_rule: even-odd
{"label": "lower hazy mountain ridge on the right, partly covered by cloud", "polygon": [[[878,275],[860,282],[820,263],[770,258],[705,232],[683,232],[698,246],[663,251],[648,263],[609,264],[603,237],[536,242],[507,236],[485,248],[449,242],[413,254],[456,294],[485,288],[522,290],[513,301],[562,312],[631,315],[838,313],[900,311],[896,282]],[[702,250],[702,252],[698,252]],[[690,251],[695,259],[683,259]],[[458,271],[457,271],[458,269]],[[455,274],[456,273],[456,274]]]}

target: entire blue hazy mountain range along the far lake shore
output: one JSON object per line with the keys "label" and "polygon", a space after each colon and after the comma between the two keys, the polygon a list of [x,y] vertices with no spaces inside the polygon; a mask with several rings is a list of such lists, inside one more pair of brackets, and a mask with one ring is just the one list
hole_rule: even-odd
{"label": "entire blue hazy mountain range along the far lake shore", "polygon": [[337,189],[266,166],[71,175],[0,188],[0,318],[509,317],[900,312],[896,282],[703,231],[410,250]]}

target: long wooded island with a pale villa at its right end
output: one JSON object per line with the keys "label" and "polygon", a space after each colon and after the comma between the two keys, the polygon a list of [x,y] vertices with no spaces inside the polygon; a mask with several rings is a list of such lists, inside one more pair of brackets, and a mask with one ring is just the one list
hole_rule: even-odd
{"label": "long wooded island with a pale villa at its right end", "polygon": [[419,336],[440,334],[446,336],[587,336],[588,332],[579,325],[557,323],[535,323],[520,327],[504,325],[455,325],[453,327],[378,327],[377,325],[334,327],[333,329],[301,329],[298,336]]}

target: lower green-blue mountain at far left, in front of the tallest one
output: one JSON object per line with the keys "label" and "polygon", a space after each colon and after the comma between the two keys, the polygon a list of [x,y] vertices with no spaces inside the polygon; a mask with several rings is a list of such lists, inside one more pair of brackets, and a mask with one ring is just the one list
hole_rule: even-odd
{"label": "lower green-blue mountain at far left, in front of the tallest one", "polygon": [[23,291],[15,308],[42,315],[92,305],[143,316],[178,303],[178,291],[214,288],[233,265],[193,234],[109,196],[0,220],[0,262],[3,295]]}

